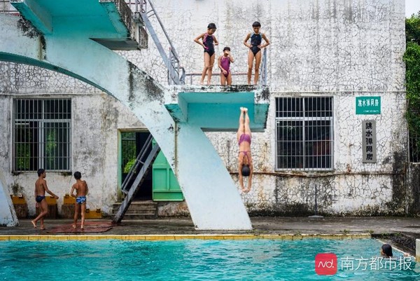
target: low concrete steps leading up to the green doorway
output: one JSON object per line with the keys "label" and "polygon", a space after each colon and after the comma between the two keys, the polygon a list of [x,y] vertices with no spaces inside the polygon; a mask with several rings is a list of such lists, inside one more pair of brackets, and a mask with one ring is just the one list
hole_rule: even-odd
{"label": "low concrete steps leading up to the green doorway", "polygon": [[[113,217],[118,212],[121,203],[115,203],[112,207]],[[123,220],[130,219],[157,219],[158,218],[158,203],[152,200],[147,201],[132,201],[127,212],[125,212]]]}

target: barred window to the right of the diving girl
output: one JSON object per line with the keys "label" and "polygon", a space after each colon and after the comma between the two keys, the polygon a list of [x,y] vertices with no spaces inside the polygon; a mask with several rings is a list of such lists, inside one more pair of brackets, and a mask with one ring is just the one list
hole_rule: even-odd
{"label": "barred window to the right of the diving girl", "polygon": [[332,170],[332,97],[276,98],[276,170]]}

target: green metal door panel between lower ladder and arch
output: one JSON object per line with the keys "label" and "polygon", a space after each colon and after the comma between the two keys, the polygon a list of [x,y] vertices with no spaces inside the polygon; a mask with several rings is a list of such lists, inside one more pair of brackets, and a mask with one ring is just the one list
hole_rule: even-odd
{"label": "green metal door panel between lower ladder and arch", "polygon": [[178,181],[162,151],[159,152],[152,167],[153,200],[183,201],[183,194]]}

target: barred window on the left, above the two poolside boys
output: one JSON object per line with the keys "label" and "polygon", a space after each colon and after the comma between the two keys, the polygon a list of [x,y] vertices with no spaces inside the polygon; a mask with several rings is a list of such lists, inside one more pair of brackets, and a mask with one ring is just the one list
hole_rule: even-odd
{"label": "barred window on the left, above the two poolside boys", "polygon": [[13,171],[70,171],[71,100],[13,100]]}

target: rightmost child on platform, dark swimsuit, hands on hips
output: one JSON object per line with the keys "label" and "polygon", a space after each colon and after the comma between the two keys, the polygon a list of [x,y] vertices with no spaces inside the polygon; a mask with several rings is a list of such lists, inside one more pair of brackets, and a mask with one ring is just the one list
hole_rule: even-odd
{"label": "rightmost child on platform, dark swimsuit, hands on hips", "polygon": [[[252,24],[253,33],[248,33],[244,40],[244,45],[249,48],[248,51],[248,85],[251,85],[251,75],[252,75],[252,66],[253,59],[255,57],[255,75],[254,75],[254,85],[258,83],[258,76],[260,74],[260,63],[261,63],[261,49],[269,46],[269,40],[264,33],[260,33],[261,24],[260,22],[254,22]],[[251,44],[248,43],[248,40],[251,38]],[[262,39],[264,39],[265,44],[261,45]]]}

